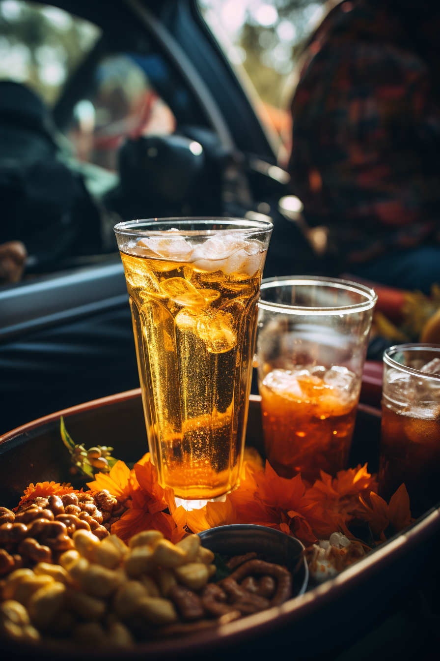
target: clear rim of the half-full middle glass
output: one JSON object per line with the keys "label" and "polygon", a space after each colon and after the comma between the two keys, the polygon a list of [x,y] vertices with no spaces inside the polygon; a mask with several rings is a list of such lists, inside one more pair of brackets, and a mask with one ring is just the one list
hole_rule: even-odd
{"label": "clear rim of the half-full middle glass", "polygon": [[[365,301],[353,303],[353,305],[340,305],[337,307],[311,307],[305,305],[288,305],[287,303],[272,303],[265,301],[261,295],[266,290],[276,286],[332,286],[344,292],[355,292],[365,296]],[[358,282],[350,280],[340,280],[340,278],[327,278],[325,276],[284,276],[283,278],[265,278],[261,282],[261,294],[258,302],[259,309],[271,312],[280,312],[287,315],[340,315],[341,313],[363,312],[373,308],[377,301],[377,294],[374,290]]]}

